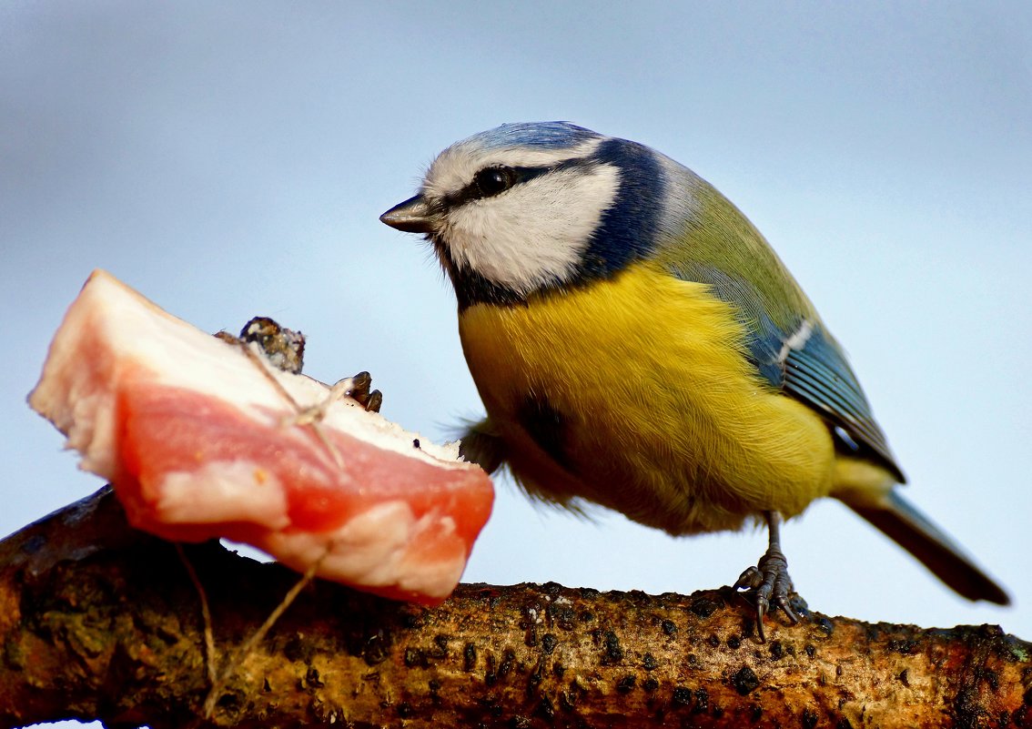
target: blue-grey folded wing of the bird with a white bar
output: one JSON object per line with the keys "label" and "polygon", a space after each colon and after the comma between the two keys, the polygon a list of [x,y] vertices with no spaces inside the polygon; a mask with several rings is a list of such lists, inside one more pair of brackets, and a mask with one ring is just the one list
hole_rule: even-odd
{"label": "blue-grey folded wing of the bird with a white bar", "polygon": [[736,307],[757,373],[819,413],[831,426],[837,447],[875,461],[900,483],[905,482],[852,368],[819,321],[799,314],[786,317],[786,323],[776,323],[752,286],[711,266],[679,267],[672,273],[708,284],[718,298]]}

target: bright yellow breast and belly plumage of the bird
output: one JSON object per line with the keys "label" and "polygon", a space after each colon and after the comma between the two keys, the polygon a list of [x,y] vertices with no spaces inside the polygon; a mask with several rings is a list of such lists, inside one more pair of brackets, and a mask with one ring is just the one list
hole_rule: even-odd
{"label": "bright yellow breast and belly plumage of the bird", "polygon": [[466,361],[530,490],[673,534],[801,512],[831,488],[827,425],[746,359],[732,307],[650,264],[459,317]]}

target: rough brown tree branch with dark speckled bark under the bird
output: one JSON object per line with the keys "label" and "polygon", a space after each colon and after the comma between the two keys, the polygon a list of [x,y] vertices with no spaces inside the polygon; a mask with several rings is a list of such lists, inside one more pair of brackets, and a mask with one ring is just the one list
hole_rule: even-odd
{"label": "rough brown tree branch with dark speckled bark under the bird", "polygon": [[0,726],[1032,727],[1032,644],[816,613],[759,642],[734,593],[460,585],[437,608],[129,528],[107,489],[0,543]]}

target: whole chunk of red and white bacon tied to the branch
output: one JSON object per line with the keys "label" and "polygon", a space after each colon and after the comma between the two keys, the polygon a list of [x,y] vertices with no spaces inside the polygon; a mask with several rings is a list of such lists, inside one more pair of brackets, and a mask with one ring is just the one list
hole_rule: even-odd
{"label": "whole chunk of red and white bacon tied to the branch", "polygon": [[226,537],[391,598],[445,599],[491,511],[490,480],[457,445],[331,400],[102,271],[68,309],[29,404],[138,529]]}

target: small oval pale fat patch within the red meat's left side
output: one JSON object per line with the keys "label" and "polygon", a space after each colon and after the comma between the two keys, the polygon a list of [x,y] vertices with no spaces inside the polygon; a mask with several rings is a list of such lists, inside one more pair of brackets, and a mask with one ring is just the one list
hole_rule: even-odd
{"label": "small oval pale fat patch within the red meat's left side", "polygon": [[250,521],[286,529],[287,495],[280,480],[253,463],[216,461],[172,472],[154,488],[154,509],[166,524]]}

